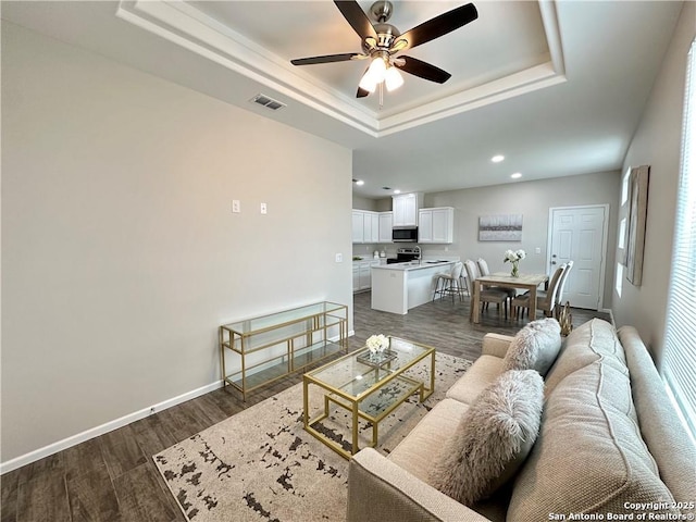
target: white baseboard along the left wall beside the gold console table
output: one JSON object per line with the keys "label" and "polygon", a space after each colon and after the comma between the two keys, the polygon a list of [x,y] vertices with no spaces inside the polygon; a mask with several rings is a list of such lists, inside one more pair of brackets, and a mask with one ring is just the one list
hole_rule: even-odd
{"label": "white baseboard along the left wall beside the gold console table", "polygon": [[[348,333],[348,337],[355,335],[355,331],[350,331]],[[337,340],[337,338],[331,339]],[[214,391],[215,389],[222,388],[223,382],[222,380],[215,381],[214,383],[208,384],[206,386],[201,386],[200,388],[196,388],[191,391],[187,391],[177,397],[173,397],[167,400],[163,400],[162,402],[158,402],[157,405],[150,406],[148,408],[144,408],[141,410],[135,411],[133,413],[128,413],[120,419],[115,419],[113,421],[109,421],[99,426],[91,427],[76,435],[72,435],[62,440],[58,440],[53,444],[49,444],[42,448],[36,449],[25,455],[21,455],[12,460],[8,460],[7,462],[0,462],[0,475],[8,473],[10,471],[16,470],[17,468],[22,468],[23,465],[30,464],[32,462],[36,462],[37,460],[44,459],[46,457],[50,457],[53,453],[58,453],[64,449],[76,446],[80,443],[85,443],[90,438],[98,437],[103,435],[104,433],[113,432],[120,427],[123,427],[132,422],[139,421],[140,419],[145,419],[148,415],[153,413],[158,413],[162,410],[166,410],[176,405],[181,405],[182,402],[186,402],[187,400],[195,399],[200,397],[201,395],[209,394]]]}

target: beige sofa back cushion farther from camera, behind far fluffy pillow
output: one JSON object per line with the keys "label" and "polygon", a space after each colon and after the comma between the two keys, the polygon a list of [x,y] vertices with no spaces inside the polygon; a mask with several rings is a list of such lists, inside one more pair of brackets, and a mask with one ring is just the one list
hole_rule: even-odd
{"label": "beige sofa back cushion farther from camera, behind far fluffy pillow", "polygon": [[607,321],[593,319],[573,330],[561,347],[556,362],[546,375],[546,395],[571,373],[605,356],[607,364],[625,366],[623,347],[614,327]]}

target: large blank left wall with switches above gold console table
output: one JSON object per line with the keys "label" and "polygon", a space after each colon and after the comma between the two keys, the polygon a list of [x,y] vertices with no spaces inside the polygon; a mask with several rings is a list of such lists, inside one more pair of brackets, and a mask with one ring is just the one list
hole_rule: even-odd
{"label": "large blank left wall with switches above gold console table", "polygon": [[220,380],[224,322],[351,306],[351,170],[333,142],[3,23],[1,460]]}

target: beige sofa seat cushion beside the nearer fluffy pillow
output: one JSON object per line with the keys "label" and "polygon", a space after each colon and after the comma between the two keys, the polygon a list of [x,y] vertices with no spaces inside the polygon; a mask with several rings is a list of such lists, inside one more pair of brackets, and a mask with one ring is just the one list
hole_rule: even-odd
{"label": "beige sofa seat cushion beside the nearer fluffy pillow", "polygon": [[389,460],[428,481],[433,461],[467,413],[469,405],[453,399],[440,400],[389,453]]}

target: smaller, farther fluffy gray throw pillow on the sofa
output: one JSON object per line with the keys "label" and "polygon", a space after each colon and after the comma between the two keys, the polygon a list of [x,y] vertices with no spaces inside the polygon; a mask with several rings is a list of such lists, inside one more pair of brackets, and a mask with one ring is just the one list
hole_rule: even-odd
{"label": "smaller, farther fluffy gray throw pillow on the sofa", "polygon": [[561,349],[561,325],[554,318],[532,321],[514,336],[502,371],[536,370],[546,375]]}

